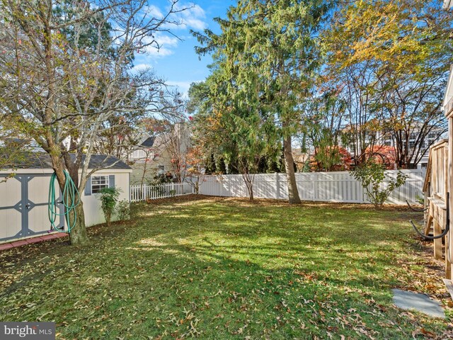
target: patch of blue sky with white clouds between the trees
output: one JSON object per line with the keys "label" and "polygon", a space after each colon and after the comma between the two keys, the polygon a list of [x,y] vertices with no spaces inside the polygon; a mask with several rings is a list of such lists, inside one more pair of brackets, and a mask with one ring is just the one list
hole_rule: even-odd
{"label": "patch of blue sky with white clouds between the trees", "polygon": [[[202,31],[205,28],[218,31],[217,23],[212,21],[215,17],[226,17],[226,10],[234,5],[234,0],[213,0],[213,1],[183,1],[180,0],[180,8],[190,7],[186,11],[178,14],[178,21],[183,25],[172,29],[178,38],[167,34],[158,33],[156,39],[159,40],[161,49],[149,50],[147,55],[136,55],[134,65],[137,68],[151,67],[154,72],[166,79],[167,84],[178,86],[180,91],[187,93],[190,83],[202,81],[209,74],[207,65],[210,64],[211,57],[205,56],[201,60],[195,53],[194,47],[198,45],[197,40],[190,35],[189,30]],[[166,13],[168,8],[167,0],[154,2],[154,12]]]}

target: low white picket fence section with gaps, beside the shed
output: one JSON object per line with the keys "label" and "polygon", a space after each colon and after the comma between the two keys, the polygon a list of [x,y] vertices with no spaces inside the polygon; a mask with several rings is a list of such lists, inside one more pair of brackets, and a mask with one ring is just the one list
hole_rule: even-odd
{"label": "low white picket fence section with gaps, beside the shed", "polygon": [[190,195],[195,189],[190,183],[166,183],[160,186],[130,186],[130,201],[156,200],[157,198],[168,198],[174,196]]}

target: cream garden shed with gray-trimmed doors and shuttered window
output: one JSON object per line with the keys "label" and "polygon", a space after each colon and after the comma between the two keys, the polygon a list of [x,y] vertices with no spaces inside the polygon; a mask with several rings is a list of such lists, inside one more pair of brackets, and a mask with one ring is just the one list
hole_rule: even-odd
{"label": "cream garden shed with gray-trimmed doors and shuttered window", "polygon": [[[15,176],[0,183],[0,243],[47,234],[50,230],[48,191],[54,172],[50,157],[44,152],[33,152],[25,164],[18,167]],[[105,222],[98,194],[101,188],[115,186],[120,189],[120,200],[130,200],[132,169],[119,159],[104,155],[91,156],[88,167],[101,169],[88,179],[82,193],[85,222],[91,226]],[[0,181],[11,172],[0,170]],[[60,214],[64,212],[61,204],[59,210]],[[64,217],[60,216],[59,226],[63,223]]]}

